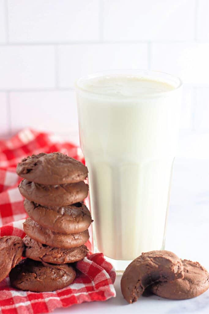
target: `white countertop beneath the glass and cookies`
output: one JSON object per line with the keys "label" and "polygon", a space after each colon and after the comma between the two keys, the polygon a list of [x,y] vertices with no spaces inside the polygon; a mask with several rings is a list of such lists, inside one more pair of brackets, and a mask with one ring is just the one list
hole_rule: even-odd
{"label": "white countertop beneath the glass and cookies", "polygon": [[[166,249],[180,258],[200,262],[209,270],[209,160],[176,159],[170,200]],[[120,291],[120,276],[114,284],[117,296],[105,302],[90,302],[54,314],[82,313],[209,313],[209,290],[189,300],[140,297],[128,305]]]}

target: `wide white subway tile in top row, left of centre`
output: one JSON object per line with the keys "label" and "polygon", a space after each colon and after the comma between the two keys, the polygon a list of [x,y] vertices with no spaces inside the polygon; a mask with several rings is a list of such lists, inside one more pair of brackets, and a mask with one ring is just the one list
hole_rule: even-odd
{"label": "wide white subway tile in top row, left of centre", "polygon": [[99,0],[8,0],[10,42],[99,39]]}

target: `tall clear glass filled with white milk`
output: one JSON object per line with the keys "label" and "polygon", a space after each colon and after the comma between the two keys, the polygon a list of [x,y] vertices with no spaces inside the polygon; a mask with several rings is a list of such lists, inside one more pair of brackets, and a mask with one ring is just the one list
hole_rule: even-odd
{"label": "tall clear glass filled with white milk", "polygon": [[107,71],[76,83],[94,251],[117,270],[165,248],[181,85],[145,70]]}

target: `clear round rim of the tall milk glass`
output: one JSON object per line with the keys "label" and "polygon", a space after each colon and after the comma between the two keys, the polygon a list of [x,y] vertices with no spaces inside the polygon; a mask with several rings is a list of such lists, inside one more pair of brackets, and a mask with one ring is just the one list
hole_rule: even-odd
{"label": "clear round rim of the tall milk glass", "polygon": [[[175,75],[172,75],[172,74],[169,74],[166,72],[144,70],[144,69],[113,69],[113,70],[104,70],[104,71],[100,71],[100,72],[81,76],[80,78],[78,78],[76,80],[75,87],[76,87],[76,89],[79,89],[79,90],[81,90],[81,91],[83,91],[89,95],[104,96],[106,98],[114,99],[114,98],[118,98],[118,96],[117,95],[107,95],[107,94],[102,93],[102,92],[92,92],[92,91],[88,90],[87,88],[85,89],[80,84],[81,84],[81,82],[87,81],[87,80],[92,79],[92,78],[105,77],[108,75],[109,76],[118,76],[118,75],[124,75],[124,74],[129,75],[131,77],[131,76],[135,76],[136,74],[139,75],[140,72],[144,73],[144,75],[146,75],[146,74],[147,75],[153,75],[153,77],[145,77],[145,78],[149,78],[149,79],[157,80],[157,81],[162,82],[162,83],[170,84],[171,86],[174,87],[174,89],[162,91],[162,92],[157,92],[157,93],[153,93],[153,94],[143,93],[143,94],[137,95],[137,96],[136,95],[134,95],[134,96],[130,96],[130,95],[123,96],[123,97],[121,97],[121,100],[133,99],[133,98],[139,99],[141,97],[152,98],[152,97],[156,97],[156,96],[163,96],[163,95],[167,95],[167,94],[171,94],[171,93],[175,92],[177,89],[180,89],[180,87],[183,85],[182,80],[178,76],[175,76]],[[154,77],[154,75],[155,75],[155,77]],[[165,77],[167,79],[170,79],[170,81],[173,81],[173,82],[175,81],[177,86],[174,86],[172,83],[166,82],[166,80],[163,80],[163,78],[160,79],[160,76]]]}

